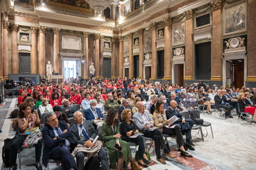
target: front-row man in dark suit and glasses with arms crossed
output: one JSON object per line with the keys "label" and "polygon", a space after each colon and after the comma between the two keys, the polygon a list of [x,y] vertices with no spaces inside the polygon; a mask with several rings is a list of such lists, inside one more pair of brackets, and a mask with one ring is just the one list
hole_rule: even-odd
{"label": "front-row man in dark suit and glasses with arms crossed", "polygon": [[42,130],[44,140],[42,163],[44,166],[47,167],[51,157],[61,160],[61,169],[78,169],[74,157],[70,154],[70,150],[74,148],[74,141],[68,124],[59,121],[54,112],[46,115],[46,122]]}

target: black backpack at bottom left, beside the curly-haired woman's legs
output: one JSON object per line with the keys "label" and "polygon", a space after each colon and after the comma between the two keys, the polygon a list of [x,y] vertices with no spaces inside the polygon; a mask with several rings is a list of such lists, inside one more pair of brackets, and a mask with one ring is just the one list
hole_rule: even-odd
{"label": "black backpack at bottom left, beside the curly-haired woman's legs", "polygon": [[3,145],[3,150],[2,150],[2,160],[5,168],[8,168],[11,166],[11,160],[10,160],[10,146],[12,141],[16,139],[17,137],[15,136],[12,139],[5,139],[4,140],[4,145]]}

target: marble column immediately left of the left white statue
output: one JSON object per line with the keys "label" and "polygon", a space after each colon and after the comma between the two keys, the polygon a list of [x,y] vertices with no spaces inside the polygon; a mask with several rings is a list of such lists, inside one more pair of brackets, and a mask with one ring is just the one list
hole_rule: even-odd
{"label": "marble column immediately left of the left white statue", "polygon": [[41,76],[46,76],[45,68],[45,31],[46,26],[40,26],[39,29],[39,55],[38,55],[38,67]]}

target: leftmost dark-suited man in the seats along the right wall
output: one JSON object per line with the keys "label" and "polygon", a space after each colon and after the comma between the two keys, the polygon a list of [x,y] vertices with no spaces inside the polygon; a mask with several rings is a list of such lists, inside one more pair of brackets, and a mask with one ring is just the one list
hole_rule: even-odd
{"label": "leftmost dark-suited man in the seats along the right wall", "polygon": [[214,96],[214,101],[216,109],[224,108],[227,110],[225,112],[225,118],[233,118],[233,116],[231,116],[231,110],[233,109],[233,107],[231,105],[225,105],[225,103],[223,103],[223,95],[221,94],[221,90],[217,90],[217,94]]}

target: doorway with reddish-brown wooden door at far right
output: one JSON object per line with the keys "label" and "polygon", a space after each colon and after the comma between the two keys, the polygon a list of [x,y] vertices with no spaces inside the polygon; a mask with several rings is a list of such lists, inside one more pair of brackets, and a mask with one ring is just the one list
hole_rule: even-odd
{"label": "doorway with reddish-brown wooden door at far right", "polygon": [[227,86],[244,86],[244,59],[227,60]]}

